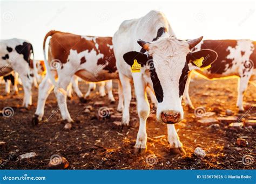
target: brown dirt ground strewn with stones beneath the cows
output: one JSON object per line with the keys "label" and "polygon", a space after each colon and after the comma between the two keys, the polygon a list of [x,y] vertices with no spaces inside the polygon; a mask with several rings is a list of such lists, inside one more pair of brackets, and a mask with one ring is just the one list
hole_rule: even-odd
{"label": "brown dirt ground strewn with stones beneath the cows", "polygon": [[[80,89],[85,94],[87,84],[80,82]],[[40,122],[32,126],[31,119],[36,111],[37,89],[33,88],[32,106],[29,110],[19,108],[22,104],[23,90],[17,96],[0,95],[0,110],[12,107],[14,115],[0,116],[0,141],[7,146],[0,148],[1,169],[46,169],[51,155],[58,154],[69,161],[67,169],[255,169],[256,160],[245,165],[242,158],[245,155],[255,157],[255,129],[228,127],[228,123],[219,122],[217,126],[202,125],[198,117],[188,109],[184,110],[184,121],[176,124],[176,129],[186,154],[172,154],[167,142],[166,125],[156,121],[152,111],[147,121],[147,152],[134,154],[138,131],[138,116],[133,98],[130,107],[130,126],[122,127],[113,124],[121,121],[116,111],[117,101],[110,104],[107,96],[100,98],[93,92],[92,100],[86,104],[80,103],[73,95],[68,101],[70,115],[75,121],[70,131],[63,129],[54,93],[48,97],[45,107],[45,119],[53,116],[49,122]],[[249,85],[244,102],[256,104],[256,87]],[[114,97],[118,100],[117,83],[114,82]],[[4,93],[4,85],[0,86]],[[225,117],[226,109],[238,116],[235,107],[237,99],[237,79],[207,81],[194,79],[190,86],[191,100],[195,107],[204,107],[207,112],[217,111],[213,118]],[[110,119],[97,119],[99,106],[96,101],[103,101],[104,106],[113,111]],[[92,105],[90,114],[85,114],[84,108]],[[249,106],[250,106],[249,105]],[[248,105],[247,105],[248,106]],[[248,108],[247,108],[248,109]],[[246,111],[242,121],[256,118],[256,108]],[[247,140],[245,147],[235,144],[237,138]],[[201,147],[206,157],[197,158],[193,152]],[[35,152],[36,157],[17,159],[18,155]]]}

